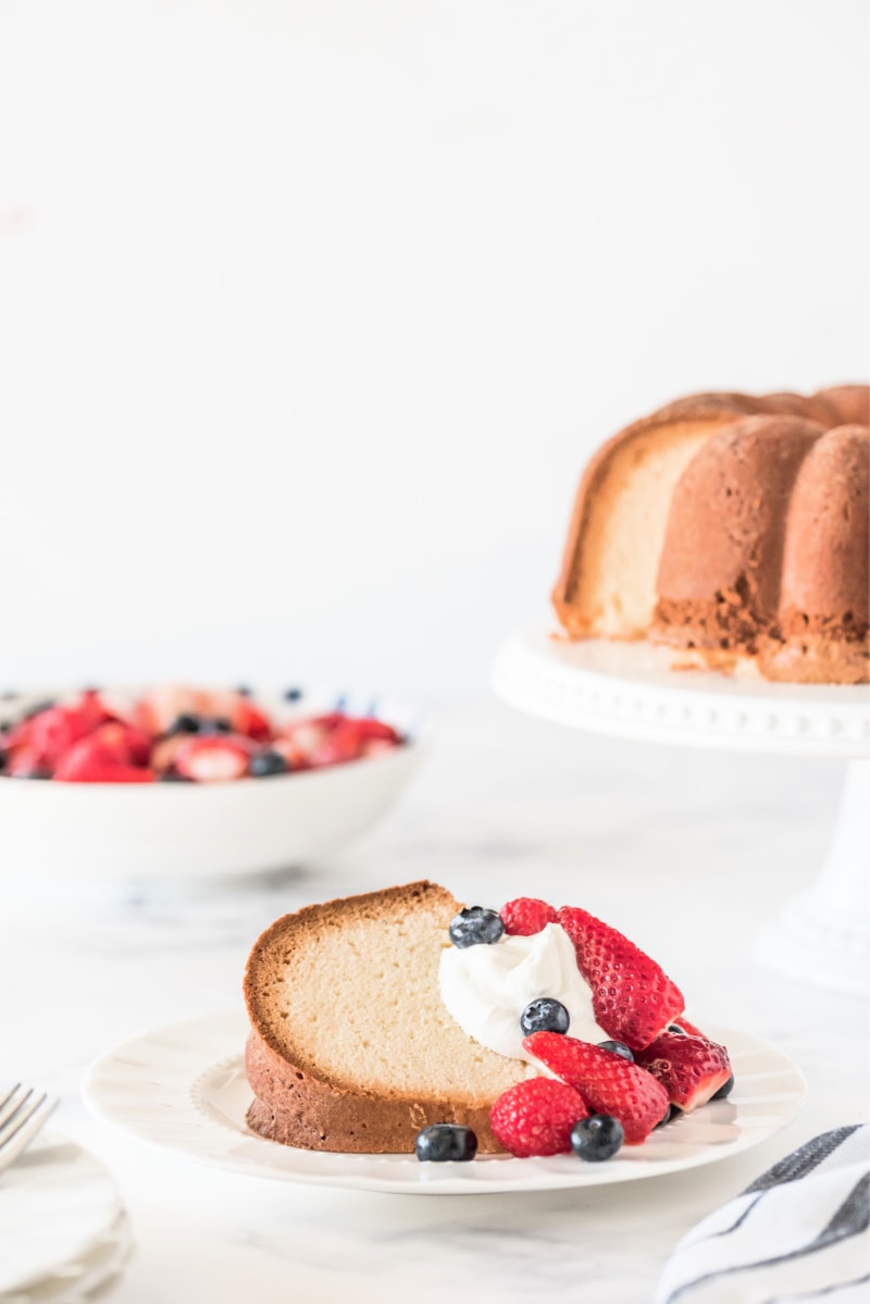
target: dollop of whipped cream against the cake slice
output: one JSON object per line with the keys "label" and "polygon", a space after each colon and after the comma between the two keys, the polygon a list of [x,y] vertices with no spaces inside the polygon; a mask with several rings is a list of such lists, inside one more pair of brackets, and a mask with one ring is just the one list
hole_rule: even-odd
{"label": "dollop of whipped cream against the cake slice", "polygon": [[552,996],[567,1009],[569,1037],[603,1042],[592,992],[577,968],[574,943],[560,923],[530,938],[503,936],[490,945],[447,947],[438,966],[441,999],[459,1026],[490,1051],[533,1063],[523,1050],[519,1016],[530,1001]]}

